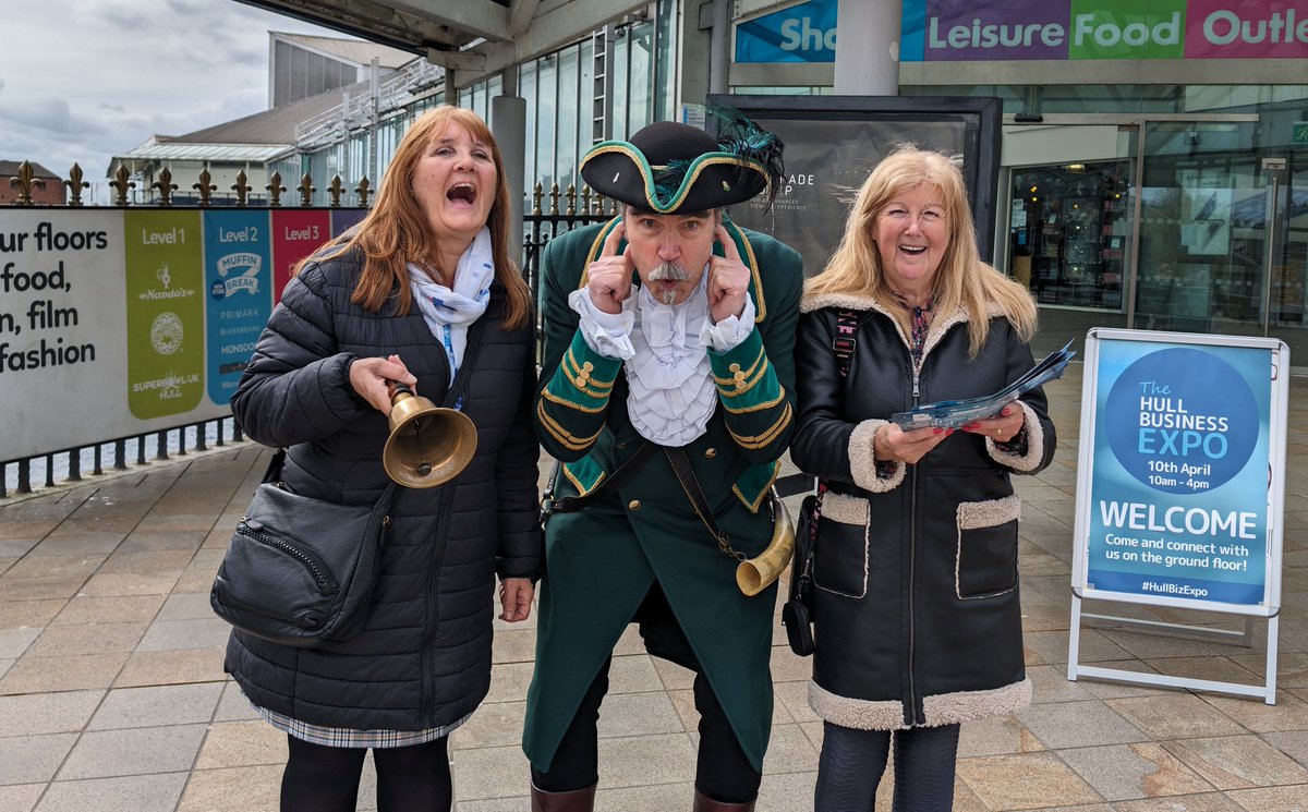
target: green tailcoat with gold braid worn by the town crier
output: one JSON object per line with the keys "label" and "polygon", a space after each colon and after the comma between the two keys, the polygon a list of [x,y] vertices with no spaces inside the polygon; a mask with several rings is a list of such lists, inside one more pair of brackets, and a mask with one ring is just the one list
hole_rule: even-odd
{"label": "green tailcoat with gold braid worn by the town crier", "polygon": [[[644,438],[627,412],[623,361],[586,345],[568,294],[585,285],[613,220],[553,239],[542,258],[544,358],[536,434],[562,465],[555,496],[594,489]],[[772,537],[766,494],[794,426],[794,343],[803,263],[790,247],[727,222],[752,272],[757,316],[739,347],[709,352],[718,407],[685,446],[718,527],[753,557]],[[625,245],[625,243],[624,243]],[[621,250],[621,246],[619,247]],[[714,252],[722,252],[714,245]],[[581,700],[657,579],[692,651],[647,639],[651,654],[697,662],[755,769],[763,771],[772,726],[776,586],[746,598],[736,561],[718,549],[663,454],[619,489],[545,524],[536,671],[527,692],[523,749],[548,770]]]}

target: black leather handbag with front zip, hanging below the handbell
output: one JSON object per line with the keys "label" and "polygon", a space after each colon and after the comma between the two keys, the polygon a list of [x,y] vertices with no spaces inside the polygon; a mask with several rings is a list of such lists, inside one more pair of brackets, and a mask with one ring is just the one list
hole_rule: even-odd
{"label": "black leather handbag with front zip, hanging below the handbell", "polygon": [[273,455],[237,523],[209,604],[242,632],[307,649],[364,626],[399,485],[375,505],[309,498],[276,481],[285,455]]}

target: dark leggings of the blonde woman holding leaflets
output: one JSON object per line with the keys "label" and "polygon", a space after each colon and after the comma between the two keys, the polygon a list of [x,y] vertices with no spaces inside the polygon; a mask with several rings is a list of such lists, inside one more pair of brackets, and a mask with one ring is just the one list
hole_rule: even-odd
{"label": "dark leggings of the blonde woman holding leaflets", "polygon": [[[815,812],[872,812],[891,736],[823,723]],[[895,731],[893,737],[895,812],[950,812],[959,726],[913,727]]]}

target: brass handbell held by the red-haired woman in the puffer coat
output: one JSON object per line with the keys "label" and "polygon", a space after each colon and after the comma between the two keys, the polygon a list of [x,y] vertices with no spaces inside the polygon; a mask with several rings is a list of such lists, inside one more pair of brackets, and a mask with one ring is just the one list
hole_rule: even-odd
{"label": "brass handbell held by the red-haired woman in the puffer coat", "polygon": [[386,388],[391,396],[391,433],[382,448],[386,475],[405,488],[436,488],[456,477],[477,450],[472,420],[403,383],[390,381]]}

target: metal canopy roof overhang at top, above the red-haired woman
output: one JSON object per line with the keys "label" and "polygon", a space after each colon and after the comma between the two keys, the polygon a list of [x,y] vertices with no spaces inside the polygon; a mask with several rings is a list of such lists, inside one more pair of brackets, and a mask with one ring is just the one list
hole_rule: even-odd
{"label": "metal canopy roof overhang at top, above the red-haired woman", "polygon": [[462,88],[574,42],[649,1],[237,0],[425,56]]}

